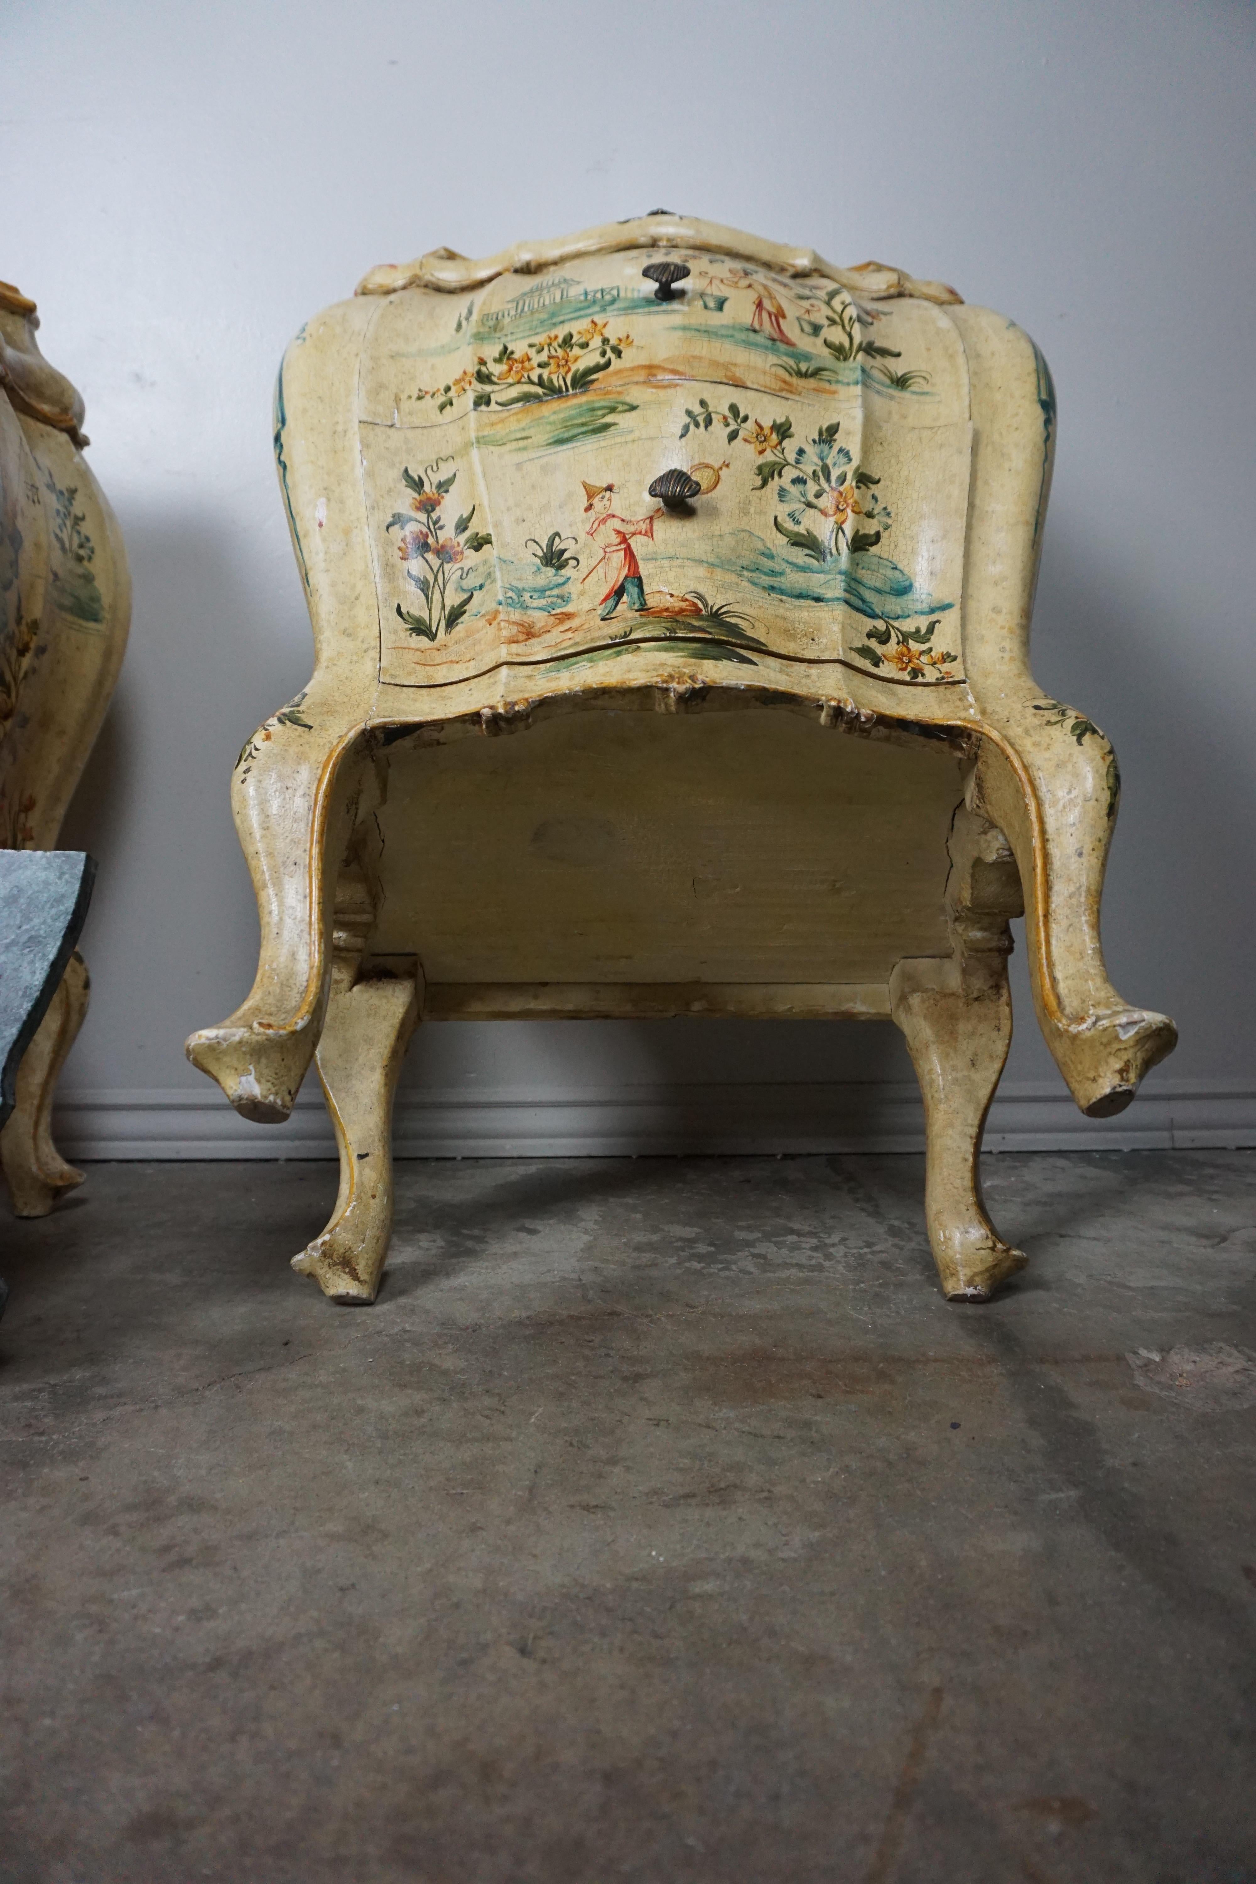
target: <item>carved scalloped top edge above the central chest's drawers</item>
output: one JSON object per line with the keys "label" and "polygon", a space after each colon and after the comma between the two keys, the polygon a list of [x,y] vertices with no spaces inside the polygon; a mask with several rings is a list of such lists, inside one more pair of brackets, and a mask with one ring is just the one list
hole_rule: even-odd
{"label": "carved scalloped top edge above the central chest's drawers", "polygon": [[461,294],[482,288],[497,275],[540,275],[548,268],[574,262],[588,254],[616,254],[623,249],[699,249],[702,252],[734,256],[738,262],[757,262],[776,275],[823,275],[836,281],[847,294],[864,301],[889,301],[913,296],[936,301],[940,307],[962,305],[962,296],[943,281],[917,281],[885,262],[861,262],[857,268],[836,268],[813,249],[791,249],[787,243],[765,241],[723,222],[702,222],[699,217],[633,217],[627,222],[603,222],[578,236],[556,236],[548,241],[522,241],[499,254],[475,262],[454,249],[431,249],[416,262],[386,262],[373,268],[356,286],[356,294],[399,294],[403,288],[435,288],[441,294]]}

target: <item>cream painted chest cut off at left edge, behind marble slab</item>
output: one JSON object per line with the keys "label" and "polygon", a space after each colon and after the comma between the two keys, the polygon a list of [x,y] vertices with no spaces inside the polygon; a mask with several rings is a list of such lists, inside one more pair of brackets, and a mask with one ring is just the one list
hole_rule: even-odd
{"label": "cream painted chest cut off at left edge, behind marble slab", "polygon": [[[0,846],[55,850],[126,650],[126,554],[83,458],[83,399],[40,354],[36,303],[0,283]],[[0,1164],[19,1217],[83,1172],[51,1136],[56,1076],[87,1014],[72,955],[17,1072]]]}

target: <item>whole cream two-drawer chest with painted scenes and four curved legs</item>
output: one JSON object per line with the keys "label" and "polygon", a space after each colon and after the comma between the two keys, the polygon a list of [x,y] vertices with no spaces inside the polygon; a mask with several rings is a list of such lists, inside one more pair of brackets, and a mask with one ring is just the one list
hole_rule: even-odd
{"label": "whole cream two-drawer chest with painted scenes and four curved legs", "polygon": [[1021,1268],[977,1183],[1009,918],[1083,1112],[1175,1040],[1100,953],[1113,750],[1028,667],[1053,445],[1002,317],[663,213],[301,330],[314,674],[233,778],[256,983],[188,1042],[258,1121],[318,1057],[341,1194],[298,1270],[375,1296],[416,1021],[665,1014],[896,1021],[945,1292]]}

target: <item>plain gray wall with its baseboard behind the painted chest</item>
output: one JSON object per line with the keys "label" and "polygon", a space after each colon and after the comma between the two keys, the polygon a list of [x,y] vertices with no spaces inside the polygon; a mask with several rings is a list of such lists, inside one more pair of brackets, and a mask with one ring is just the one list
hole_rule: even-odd
{"label": "plain gray wall with its baseboard behind the painted chest", "polygon": [[[0,275],[87,398],[136,580],[66,831],[102,863],[64,1081],[79,1151],[282,1136],[233,1121],[183,1038],[252,976],[228,772],[309,674],[269,448],[286,339],[375,262],[657,203],[940,275],[1045,349],[1036,671],[1117,742],[1109,966],[1183,1032],[1119,1142],[1256,1142],[1250,6],[66,0],[9,4],[2,53]],[[1066,1142],[1019,1012],[1021,1110],[996,1125]],[[908,1130],[889,1027],[431,1029],[407,1078],[414,1149]],[[318,1130],[307,1113],[290,1149]]]}

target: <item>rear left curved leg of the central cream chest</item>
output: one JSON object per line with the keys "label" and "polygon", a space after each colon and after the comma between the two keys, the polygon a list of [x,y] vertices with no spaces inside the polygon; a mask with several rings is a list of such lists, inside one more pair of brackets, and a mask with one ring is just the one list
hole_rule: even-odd
{"label": "rear left curved leg of the central cream chest", "polygon": [[331,978],[316,1066],[341,1153],[322,1236],[292,1259],[333,1302],[373,1302],[392,1232],[392,1100],[418,1021],[414,980]]}

